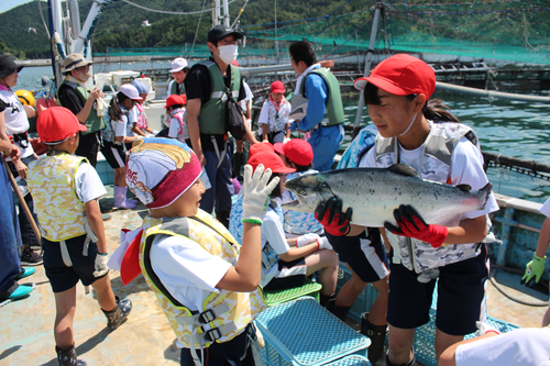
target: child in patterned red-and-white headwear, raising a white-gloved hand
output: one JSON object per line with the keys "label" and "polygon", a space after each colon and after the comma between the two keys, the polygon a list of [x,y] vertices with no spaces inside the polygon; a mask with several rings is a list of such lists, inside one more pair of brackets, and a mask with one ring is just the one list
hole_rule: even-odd
{"label": "child in patterned red-and-white headwear, raising a white-gloved hand", "polygon": [[128,159],[130,189],[150,209],[127,232],[112,263],[124,284],[140,273],[155,293],[182,348],[182,365],[254,365],[252,320],[265,308],[258,287],[261,224],[270,184],[263,166],[244,167],[244,240],[199,209],[202,166],[186,144],[145,138]]}

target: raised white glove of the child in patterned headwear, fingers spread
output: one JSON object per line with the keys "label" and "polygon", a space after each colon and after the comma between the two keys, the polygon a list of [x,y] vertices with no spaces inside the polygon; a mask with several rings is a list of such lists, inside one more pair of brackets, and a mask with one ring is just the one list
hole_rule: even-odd
{"label": "raised white glove of the child in patterned headwear, fingers spread", "polygon": [[252,175],[252,166],[244,166],[244,186],[242,199],[242,222],[262,224],[267,208],[267,197],[278,185],[279,178],[275,177],[268,185],[272,169],[264,173],[264,166],[260,164]]}

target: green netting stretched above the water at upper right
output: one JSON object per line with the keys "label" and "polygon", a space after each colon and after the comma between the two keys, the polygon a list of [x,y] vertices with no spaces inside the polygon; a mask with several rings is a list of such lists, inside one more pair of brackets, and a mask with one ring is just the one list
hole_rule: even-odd
{"label": "green netting stretched above the water at upper right", "polygon": [[[318,56],[366,52],[376,1],[334,3],[331,14],[274,24],[241,24],[246,34],[243,57],[275,57],[273,44],[287,52],[287,44],[307,40]],[[550,64],[550,3],[531,0],[501,1],[383,1],[375,52],[444,54],[476,59]],[[280,16],[279,16],[280,18]]]}

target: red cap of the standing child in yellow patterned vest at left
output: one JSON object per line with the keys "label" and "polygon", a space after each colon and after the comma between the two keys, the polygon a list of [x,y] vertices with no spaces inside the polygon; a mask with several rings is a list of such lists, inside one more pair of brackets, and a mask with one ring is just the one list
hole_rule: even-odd
{"label": "red cap of the standing child in yellow patterned vest at left", "polygon": [[57,145],[88,127],[65,107],[52,107],[38,114],[36,132],[46,145]]}

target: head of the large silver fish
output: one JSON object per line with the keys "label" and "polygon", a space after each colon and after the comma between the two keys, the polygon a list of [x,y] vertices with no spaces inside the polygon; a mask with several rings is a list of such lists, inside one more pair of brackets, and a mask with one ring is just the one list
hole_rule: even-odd
{"label": "head of the large silver fish", "polygon": [[[306,174],[287,180],[285,188],[296,197],[294,201],[283,203],[287,210],[314,213],[319,203],[327,200],[323,193],[326,182],[322,174]],[[332,196],[332,195],[330,195]]]}

